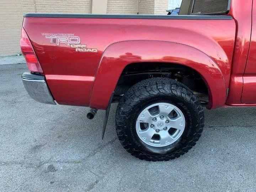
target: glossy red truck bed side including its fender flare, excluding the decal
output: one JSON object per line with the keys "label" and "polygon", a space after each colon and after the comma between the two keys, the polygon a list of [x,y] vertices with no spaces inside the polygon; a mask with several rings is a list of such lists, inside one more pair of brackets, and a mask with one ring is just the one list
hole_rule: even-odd
{"label": "glossy red truck bed side including its fender flare, excluding the decal", "polygon": [[[235,41],[234,20],[26,17],[23,27],[48,86],[60,104],[88,106],[91,103],[91,107],[105,109],[126,65],[156,60],[187,65],[202,75],[206,73],[203,78],[214,93],[211,107],[225,103]],[[82,44],[99,51],[75,52],[65,44],[57,47],[41,33],[74,33],[81,38]],[[123,41],[131,41],[131,47],[118,43]]]}

